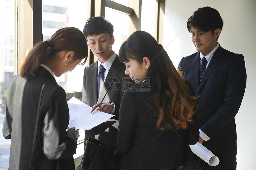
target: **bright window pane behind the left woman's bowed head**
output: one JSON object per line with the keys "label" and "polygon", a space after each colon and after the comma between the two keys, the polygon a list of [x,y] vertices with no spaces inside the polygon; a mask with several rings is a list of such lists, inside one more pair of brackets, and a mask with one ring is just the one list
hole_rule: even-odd
{"label": "bright window pane behind the left woman's bowed head", "polygon": [[[88,18],[88,1],[85,0],[42,0],[42,34],[43,41],[51,38],[51,35],[60,28],[76,27],[83,31]],[[85,66],[76,66],[72,72],[55,77],[57,83],[66,92],[81,91],[83,82],[83,70]]]}

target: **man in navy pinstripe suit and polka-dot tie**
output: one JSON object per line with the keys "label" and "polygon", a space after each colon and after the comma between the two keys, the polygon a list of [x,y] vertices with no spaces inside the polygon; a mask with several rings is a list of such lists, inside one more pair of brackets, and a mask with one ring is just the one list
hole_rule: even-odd
{"label": "man in navy pinstripe suit and polka-dot tie", "polygon": [[[199,8],[188,19],[188,31],[198,53],[179,63],[182,77],[191,82],[199,95],[199,142],[215,154],[220,163],[203,169],[236,169],[235,115],[246,87],[246,69],[242,54],[223,49],[217,42],[223,21],[216,9]],[[187,163],[185,169],[189,169]]]}

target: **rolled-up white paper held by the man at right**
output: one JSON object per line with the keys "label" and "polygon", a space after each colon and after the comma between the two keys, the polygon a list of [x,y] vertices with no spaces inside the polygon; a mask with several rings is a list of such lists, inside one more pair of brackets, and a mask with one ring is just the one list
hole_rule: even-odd
{"label": "rolled-up white paper held by the man at right", "polygon": [[189,147],[194,154],[196,154],[210,166],[216,166],[220,163],[219,158],[199,142],[194,145],[189,145]]}

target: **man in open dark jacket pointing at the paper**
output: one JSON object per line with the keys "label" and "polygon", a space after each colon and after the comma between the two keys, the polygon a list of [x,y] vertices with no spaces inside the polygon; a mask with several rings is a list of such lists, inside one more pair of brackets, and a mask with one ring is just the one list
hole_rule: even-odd
{"label": "man in open dark jacket pointing at the paper", "polygon": [[85,140],[92,137],[115,145],[118,133],[119,107],[125,89],[125,65],[112,50],[115,42],[113,25],[104,17],[89,18],[84,34],[96,62],[84,69],[82,101],[94,109],[115,115],[110,120],[85,131]]}

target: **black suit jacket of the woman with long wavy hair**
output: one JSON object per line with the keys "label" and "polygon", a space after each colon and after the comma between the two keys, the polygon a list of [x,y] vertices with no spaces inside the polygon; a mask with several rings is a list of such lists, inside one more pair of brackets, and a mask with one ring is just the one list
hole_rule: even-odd
{"label": "black suit jacket of the woman with long wavy hair", "polygon": [[[190,89],[192,87],[190,85]],[[199,130],[189,123],[187,129],[159,130],[152,119],[155,89],[136,85],[125,91],[120,106],[116,147],[120,153],[121,169],[166,170],[185,161],[185,147],[196,144]],[[195,114],[192,119],[196,123]]]}

